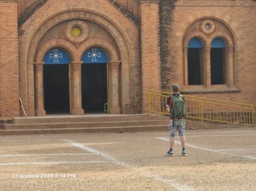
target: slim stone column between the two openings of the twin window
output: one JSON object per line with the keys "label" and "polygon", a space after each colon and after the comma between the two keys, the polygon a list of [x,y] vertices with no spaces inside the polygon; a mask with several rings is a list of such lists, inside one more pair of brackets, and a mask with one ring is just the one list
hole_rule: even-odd
{"label": "slim stone column between the two openings of the twin window", "polygon": [[204,63],[205,88],[211,88],[211,46],[205,46],[204,52],[205,52],[205,63]]}

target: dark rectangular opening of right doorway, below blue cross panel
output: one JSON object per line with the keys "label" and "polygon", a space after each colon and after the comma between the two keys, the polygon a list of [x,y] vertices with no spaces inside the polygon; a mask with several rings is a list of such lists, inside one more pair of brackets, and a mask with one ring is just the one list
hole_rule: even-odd
{"label": "dark rectangular opening of right doorway, below blue cross panel", "polygon": [[85,113],[103,113],[107,102],[107,63],[82,64],[82,108]]}

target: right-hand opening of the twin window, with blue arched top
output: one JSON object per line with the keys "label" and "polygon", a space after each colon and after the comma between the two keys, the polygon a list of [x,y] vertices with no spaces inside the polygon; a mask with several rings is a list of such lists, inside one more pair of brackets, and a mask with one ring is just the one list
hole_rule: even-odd
{"label": "right-hand opening of the twin window, with blue arched top", "polygon": [[226,84],[226,45],[221,38],[211,42],[211,84]]}

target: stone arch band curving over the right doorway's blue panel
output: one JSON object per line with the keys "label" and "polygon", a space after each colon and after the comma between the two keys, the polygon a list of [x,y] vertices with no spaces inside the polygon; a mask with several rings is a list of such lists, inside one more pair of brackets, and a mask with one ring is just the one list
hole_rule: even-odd
{"label": "stone arch band curving over the right doorway's blue panel", "polygon": [[111,43],[104,39],[89,39],[88,41],[82,43],[77,50],[77,54],[80,55],[79,59],[81,60],[84,52],[93,46],[102,48],[107,54],[109,61],[120,60],[116,48],[114,48]]}

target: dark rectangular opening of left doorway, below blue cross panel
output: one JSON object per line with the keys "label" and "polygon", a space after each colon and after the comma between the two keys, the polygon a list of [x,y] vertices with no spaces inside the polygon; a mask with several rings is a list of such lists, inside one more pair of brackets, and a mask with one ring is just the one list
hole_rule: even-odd
{"label": "dark rectangular opening of left doorway, below blue cross panel", "polygon": [[68,64],[44,65],[44,102],[46,114],[70,114]]}

